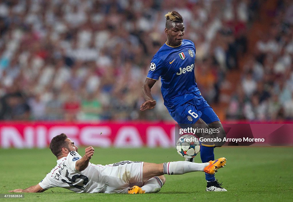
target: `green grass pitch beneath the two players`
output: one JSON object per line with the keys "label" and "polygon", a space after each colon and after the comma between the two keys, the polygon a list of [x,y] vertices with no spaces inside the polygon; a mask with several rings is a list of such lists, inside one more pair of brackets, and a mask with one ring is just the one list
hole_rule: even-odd
{"label": "green grass pitch beneath the two players", "polygon": [[[40,182],[56,165],[50,149],[0,149],[0,193],[27,188]],[[84,148],[79,148],[84,155]],[[227,166],[216,174],[227,192],[206,192],[203,172],[168,175],[155,194],[77,194],[52,188],[43,193],[24,193],[23,199],[0,201],[292,201],[293,147],[222,147],[215,158],[226,157]],[[95,148],[92,163],[123,160],[163,163],[184,160],[175,148]],[[200,163],[200,157],[195,161]]]}

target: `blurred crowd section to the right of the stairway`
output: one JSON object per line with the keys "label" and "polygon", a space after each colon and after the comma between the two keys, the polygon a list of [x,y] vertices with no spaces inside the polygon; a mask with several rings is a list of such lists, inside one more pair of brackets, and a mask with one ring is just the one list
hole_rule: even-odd
{"label": "blurred crowd section to the right of the stairway", "polygon": [[278,1],[268,32],[246,61],[228,119],[293,119],[293,2]]}

